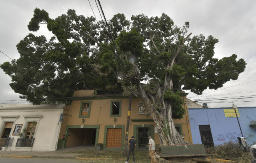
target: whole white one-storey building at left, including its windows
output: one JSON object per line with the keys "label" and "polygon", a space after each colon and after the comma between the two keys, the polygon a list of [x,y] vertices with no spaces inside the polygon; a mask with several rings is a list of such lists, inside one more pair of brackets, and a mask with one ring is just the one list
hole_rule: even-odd
{"label": "whole white one-storey building at left, including its windows", "polygon": [[55,151],[64,104],[0,105],[4,151]]}

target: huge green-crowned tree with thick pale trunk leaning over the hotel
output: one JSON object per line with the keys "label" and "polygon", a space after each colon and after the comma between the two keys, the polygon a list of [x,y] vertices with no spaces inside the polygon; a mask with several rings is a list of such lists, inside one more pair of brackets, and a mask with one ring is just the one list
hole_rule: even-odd
{"label": "huge green-crowned tree with thick pale trunk leaning over the hotel", "polygon": [[55,19],[35,9],[28,28],[46,24],[54,35],[28,34],[17,49],[21,57],[1,65],[12,77],[11,88],[33,104],[57,102],[77,89],[100,89],[140,97],[149,109],[162,145],[184,144],[173,118],[182,118],[182,89],[202,94],[235,80],[245,69],[237,55],[214,58],[213,36],[188,33],[166,14],[114,15],[109,21],[77,15]]}

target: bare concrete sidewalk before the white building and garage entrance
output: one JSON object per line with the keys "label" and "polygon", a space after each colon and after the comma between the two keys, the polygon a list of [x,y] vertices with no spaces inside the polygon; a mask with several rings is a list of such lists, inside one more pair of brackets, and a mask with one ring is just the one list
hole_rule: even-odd
{"label": "bare concrete sidewalk before the white building and garage entrance", "polygon": [[[94,146],[75,146],[62,148],[57,151],[1,151],[0,157],[20,157],[20,158],[77,158],[79,153],[72,153],[83,149],[95,149]],[[96,150],[96,149],[95,149]]]}

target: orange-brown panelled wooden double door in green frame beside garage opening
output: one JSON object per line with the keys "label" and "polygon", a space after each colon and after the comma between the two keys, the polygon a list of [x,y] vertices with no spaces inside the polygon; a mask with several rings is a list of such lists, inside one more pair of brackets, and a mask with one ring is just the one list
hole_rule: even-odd
{"label": "orange-brown panelled wooden double door in green frame beside garage opening", "polygon": [[122,128],[108,128],[106,148],[121,148]]}

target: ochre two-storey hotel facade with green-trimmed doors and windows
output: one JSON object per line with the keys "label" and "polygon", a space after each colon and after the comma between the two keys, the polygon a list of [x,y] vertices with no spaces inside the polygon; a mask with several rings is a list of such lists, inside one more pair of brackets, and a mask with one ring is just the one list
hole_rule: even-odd
{"label": "ochre two-storey hotel facade with green-trimmed doors and windows", "polygon": [[[185,97],[184,101],[185,101]],[[123,149],[127,115],[130,115],[129,135],[135,136],[138,149],[147,149],[148,136],[159,145],[159,136],[153,119],[143,101],[132,99],[128,112],[129,97],[117,95],[95,95],[94,90],[74,92],[71,105],[65,106],[58,149],[77,145],[102,143],[104,149]],[[192,143],[188,110],[183,119],[175,119],[176,129],[185,141]]]}

